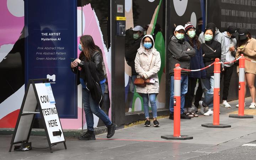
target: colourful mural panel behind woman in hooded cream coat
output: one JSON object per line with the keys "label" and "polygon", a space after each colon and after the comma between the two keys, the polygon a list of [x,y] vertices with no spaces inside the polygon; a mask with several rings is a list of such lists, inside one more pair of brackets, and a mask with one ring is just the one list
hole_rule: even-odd
{"label": "colourful mural panel behind woman in hooded cream coat", "polygon": [[[160,92],[156,98],[157,108],[165,107],[165,41],[164,28],[165,21],[163,21],[165,8],[163,7],[165,1],[163,0],[148,0],[148,1],[125,1],[125,16],[126,16],[126,30],[141,26],[144,28],[144,34],[151,34],[155,38],[155,48],[161,55],[161,68],[158,72],[160,82]],[[145,7],[146,6],[146,7]],[[130,43],[131,40],[127,40]],[[126,44],[128,46],[129,44]],[[132,44],[129,47],[134,47]],[[138,48],[137,48],[138,49]],[[143,111],[142,97],[136,92],[136,86],[132,82],[132,69],[125,62],[125,97],[126,97],[126,112]],[[150,104],[149,104],[149,107]]]}

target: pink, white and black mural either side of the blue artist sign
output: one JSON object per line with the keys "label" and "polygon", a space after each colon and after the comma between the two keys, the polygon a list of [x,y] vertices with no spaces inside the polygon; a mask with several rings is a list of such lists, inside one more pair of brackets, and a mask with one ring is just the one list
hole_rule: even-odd
{"label": "pink, white and black mural either side of the blue artist sign", "polygon": [[[102,12],[100,5],[104,5],[106,10]],[[107,36],[107,16],[110,7],[106,6],[110,6],[109,0],[98,4],[87,0],[78,1],[77,41],[79,44],[79,38],[85,34],[94,38],[95,44],[103,53],[107,79],[111,81],[111,50]],[[1,16],[0,23],[0,128],[14,128],[25,93],[24,1],[1,0],[0,15],[4,15]],[[63,129],[86,129],[81,93],[81,85],[78,85],[78,118],[60,119]],[[111,83],[108,84],[106,99],[109,99],[108,96],[111,98],[111,94],[108,93],[111,93]],[[110,103],[105,105],[105,111],[111,117]],[[94,127],[103,126],[97,116],[94,117],[94,121]],[[34,127],[39,128],[39,123]]]}

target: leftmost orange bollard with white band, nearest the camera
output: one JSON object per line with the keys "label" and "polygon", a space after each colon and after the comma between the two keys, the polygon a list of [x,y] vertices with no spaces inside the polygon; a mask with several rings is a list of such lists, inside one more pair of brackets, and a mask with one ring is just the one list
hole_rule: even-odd
{"label": "leftmost orange bollard with white band, nearest the camera", "polygon": [[180,107],[181,107],[181,68],[180,64],[175,64],[174,68],[174,134],[162,135],[161,138],[172,140],[193,139],[188,135],[180,134]]}

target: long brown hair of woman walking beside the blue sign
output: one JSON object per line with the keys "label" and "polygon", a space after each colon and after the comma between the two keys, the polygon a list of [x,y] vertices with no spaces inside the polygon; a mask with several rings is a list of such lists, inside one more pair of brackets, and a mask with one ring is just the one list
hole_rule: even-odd
{"label": "long brown hair of woman walking beside the blue sign", "polygon": [[84,35],[84,36],[80,37],[80,42],[81,42],[83,50],[79,55],[79,59],[82,57],[82,55],[84,55],[85,59],[87,61],[90,61],[92,58],[92,55],[95,52],[99,52],[94,43],[94,40],[92,39],[92,37],[90,35]]}

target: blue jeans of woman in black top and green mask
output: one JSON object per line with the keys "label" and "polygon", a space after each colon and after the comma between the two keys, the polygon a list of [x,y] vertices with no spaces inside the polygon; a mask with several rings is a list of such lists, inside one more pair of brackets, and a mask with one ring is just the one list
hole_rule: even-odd
{"label": "blue jeans of woman in black top and green mask", "polygon": [[201,79],[202,89],[204,92],[204,103],[211,109],[213,109],[213,88],[214,88],[214,76]]}

